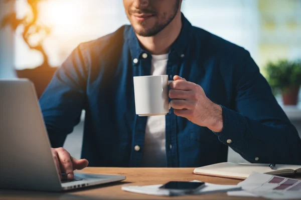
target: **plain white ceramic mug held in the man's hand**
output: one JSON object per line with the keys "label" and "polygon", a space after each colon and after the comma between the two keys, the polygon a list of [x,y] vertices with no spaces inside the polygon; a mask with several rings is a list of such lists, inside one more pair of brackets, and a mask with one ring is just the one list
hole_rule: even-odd
{"label": "plain white ceramic mug held in the man's hand", "polygon": [[165,115],[170,110],[168,75],[134,76],[136,114],[139,116]]}

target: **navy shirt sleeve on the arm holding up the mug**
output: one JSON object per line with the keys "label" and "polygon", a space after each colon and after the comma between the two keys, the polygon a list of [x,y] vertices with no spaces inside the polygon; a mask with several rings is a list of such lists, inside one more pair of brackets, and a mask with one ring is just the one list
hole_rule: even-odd
{"label": "navy shirt sleeve on the arm holding up the mug", "polygon": [[234,110],[223,105],[218,139],[250,162],[301,164],[301,139],[248,51],[234,71]]}

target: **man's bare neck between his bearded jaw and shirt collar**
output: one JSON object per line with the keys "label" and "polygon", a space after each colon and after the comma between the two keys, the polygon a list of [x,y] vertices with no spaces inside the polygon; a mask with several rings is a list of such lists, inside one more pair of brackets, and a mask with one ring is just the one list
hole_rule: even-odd
{"label": "man's bare neck between his bearded jaw and shirt collar", "polygon": [[137,35],[143,47],[152,54],[165,54],[169,52],[171,45],[177,39],[182,28],[181,12],[158,34],[150,37]]}

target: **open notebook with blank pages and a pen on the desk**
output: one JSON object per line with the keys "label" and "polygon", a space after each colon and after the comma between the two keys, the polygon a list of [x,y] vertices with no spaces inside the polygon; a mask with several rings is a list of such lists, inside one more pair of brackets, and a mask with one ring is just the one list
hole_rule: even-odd
{"label": "open notebook with blank pages and a pen on the desk", "polygon": [[199,175],[245,179],[252,171],[271,175],[289,175],[301,173],[301,165],[276,164],[276,166],[271,169],[268,164],[221,162],[197,167],[194,169],[193,173]]}

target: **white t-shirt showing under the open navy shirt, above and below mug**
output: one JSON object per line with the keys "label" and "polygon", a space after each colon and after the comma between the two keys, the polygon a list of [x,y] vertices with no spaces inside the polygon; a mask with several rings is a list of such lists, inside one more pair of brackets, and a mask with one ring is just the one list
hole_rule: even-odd
{"label": "white t-shirt showing under the open navy shirt, above and below mug", "polygon": [[[166,74],[168,54],[152,55],[152,75]],[[142,166],[165,167],[165,115],[148,116],[145,128]]]}

